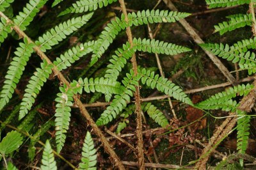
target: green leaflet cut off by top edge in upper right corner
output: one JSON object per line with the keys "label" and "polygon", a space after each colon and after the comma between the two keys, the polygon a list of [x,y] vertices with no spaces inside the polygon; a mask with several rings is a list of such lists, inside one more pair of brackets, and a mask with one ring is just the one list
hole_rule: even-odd
{"label": "green leaflet cut off by top edge in upper right corner", "polygon": [[249,4],[250,0],[205,0],[209,8],[236,6],[239,4]]}

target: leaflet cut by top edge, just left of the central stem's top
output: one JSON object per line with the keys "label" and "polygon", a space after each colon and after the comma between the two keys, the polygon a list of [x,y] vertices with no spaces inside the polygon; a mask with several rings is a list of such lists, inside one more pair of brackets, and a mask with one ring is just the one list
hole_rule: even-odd
{"label": "leaflet cut by top edge, just left of the central stem's top", "polygon": [[114,3],[117,0],[80,0],[73,3],[72,6],[60,13],[60,15],[66,15],[67,13],[85,13],[97,10],[103,6]]}

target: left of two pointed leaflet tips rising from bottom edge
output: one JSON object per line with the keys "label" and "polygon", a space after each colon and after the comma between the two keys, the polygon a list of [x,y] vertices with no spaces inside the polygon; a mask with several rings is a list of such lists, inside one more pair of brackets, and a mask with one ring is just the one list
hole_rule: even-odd
{"label": "left of two pointed leaflet tips rising from bottom edge", "polygon": [[46,141],[44,146],[44,152],[42,156],[42,170],[57,170],[56,162],[54,160],[54,155],[52,153],[52,147],[49,140]]}

